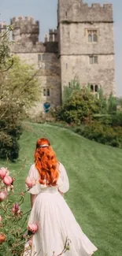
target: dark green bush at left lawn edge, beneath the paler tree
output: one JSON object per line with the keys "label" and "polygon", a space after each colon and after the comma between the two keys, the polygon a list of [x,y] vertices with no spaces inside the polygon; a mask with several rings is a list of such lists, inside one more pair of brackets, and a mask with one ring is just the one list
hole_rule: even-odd
{"label": "dark green bush at left lawn edge, beneath the paler tree", "polygon": [[20,124],[21,109],[13,103],[1,105],[2,119],[0,121],[0,158],[15,160],[19,156],[18,139],[22,133]]}

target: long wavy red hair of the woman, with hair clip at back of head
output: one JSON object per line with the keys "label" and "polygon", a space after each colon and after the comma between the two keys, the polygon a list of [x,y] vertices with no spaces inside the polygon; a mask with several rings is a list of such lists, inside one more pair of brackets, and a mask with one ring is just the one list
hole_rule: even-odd
{"label": "long wavy red hair of the woman, with hair clip at back of head", "polygon": [[38,139],[35,149],[35,167],[39,171],[40,184],[56,186],[59,171],[58,161],[48,139]]}

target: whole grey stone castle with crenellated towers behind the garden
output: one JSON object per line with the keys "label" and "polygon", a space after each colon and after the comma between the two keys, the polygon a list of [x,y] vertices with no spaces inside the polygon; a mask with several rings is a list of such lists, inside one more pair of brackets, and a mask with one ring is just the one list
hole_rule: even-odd
{"label": "whole grey stone castle with crenellated towers behind the garden", "polygon": [[[58,0],[57,29],[39,42],[39,21],[13,17],[11,52],[35,65],[42,95],[35,113],[61,105],[63,87],[78,80],[91,92],[115,95],[113,6],[82,0]],[[2,24],[1,24],[2,27]]]}

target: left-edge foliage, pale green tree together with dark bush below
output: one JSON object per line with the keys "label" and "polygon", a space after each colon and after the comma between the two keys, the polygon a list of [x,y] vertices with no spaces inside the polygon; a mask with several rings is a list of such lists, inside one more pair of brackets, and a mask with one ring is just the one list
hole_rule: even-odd
{"label": "left-edge foliage, pale green tree together with dark bush below", "polygon": [[10,29],[0,37],[0,158],[15,160],[21,121],[39,99],[39,83],[32,65],[10,55]]}

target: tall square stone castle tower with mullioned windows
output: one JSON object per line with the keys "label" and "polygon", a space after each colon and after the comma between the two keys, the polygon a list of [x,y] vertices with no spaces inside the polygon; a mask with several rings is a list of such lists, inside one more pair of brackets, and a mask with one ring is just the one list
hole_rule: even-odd
{"label": "tall square stone castle tower with mullioned windows", "polygon": [[115,94],[113,6],[58,0],[57,22],[62,91],[76,78],[94,93]]}

